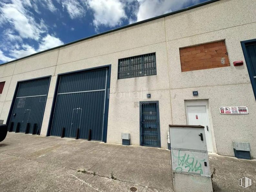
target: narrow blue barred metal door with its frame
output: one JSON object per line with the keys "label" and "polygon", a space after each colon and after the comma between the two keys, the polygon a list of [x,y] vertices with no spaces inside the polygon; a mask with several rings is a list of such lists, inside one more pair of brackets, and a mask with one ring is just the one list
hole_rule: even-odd
{"label": "narrow blue barred metal door with its frame", "polygon": [[160,147],[158,102],[140,103],[141,145]]}

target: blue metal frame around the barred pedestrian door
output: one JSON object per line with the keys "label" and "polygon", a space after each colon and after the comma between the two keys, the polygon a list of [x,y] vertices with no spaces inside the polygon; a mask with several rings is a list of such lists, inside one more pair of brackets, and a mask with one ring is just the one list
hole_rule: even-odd
{"label": "blue metal frame around the barred pedestrian door", "polygon": [[160,147],[161,148],[161,135],[160,135],[160,118],[159,118],[159,101],[140,101],[139,102],[139,145],[144,146],[142,144],[142,103],[156,103],[157,105],[157,121],[158,121],[158,146],[149,146],[147,147]]}

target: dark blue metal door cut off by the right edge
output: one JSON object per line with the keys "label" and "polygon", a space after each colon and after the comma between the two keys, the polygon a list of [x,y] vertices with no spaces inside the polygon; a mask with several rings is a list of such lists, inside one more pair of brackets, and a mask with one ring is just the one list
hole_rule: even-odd
{"label": "dark blue metal door cut off by the right edge", "polygon": [[242,43],[251,85],[256,99],[256,40]]}

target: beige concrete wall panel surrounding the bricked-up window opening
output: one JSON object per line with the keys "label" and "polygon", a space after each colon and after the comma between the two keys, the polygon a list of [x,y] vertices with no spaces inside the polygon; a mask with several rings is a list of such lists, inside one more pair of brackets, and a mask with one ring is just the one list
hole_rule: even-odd
{"label": "beige concrete wall panel surrounding the bricked-up window opening", "polygon": [[[256,20],[255,20],[256,22]],[[246,65],[234,66],[233,62],[243,60],[241,41],[256,37],[251,31],[256,30],[256,23],[237,26],[206,34],[185,37],[167,42],[170,87],[172,89],[251,83]],[[198,45],[225,39],[230,66],[213,69],[181,72],[179,47]],[[238,78],[233,78],[232,76]]]}

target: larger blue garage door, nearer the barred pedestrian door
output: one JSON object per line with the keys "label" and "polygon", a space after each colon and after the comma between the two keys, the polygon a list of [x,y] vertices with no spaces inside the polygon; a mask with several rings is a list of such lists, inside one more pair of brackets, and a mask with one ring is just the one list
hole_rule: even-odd
{"label": "larger blue garage door, nearer the barred pedestrian door", "polygon": [[51,136],[103,140],[108,69],[61,75],[58,81]]}

